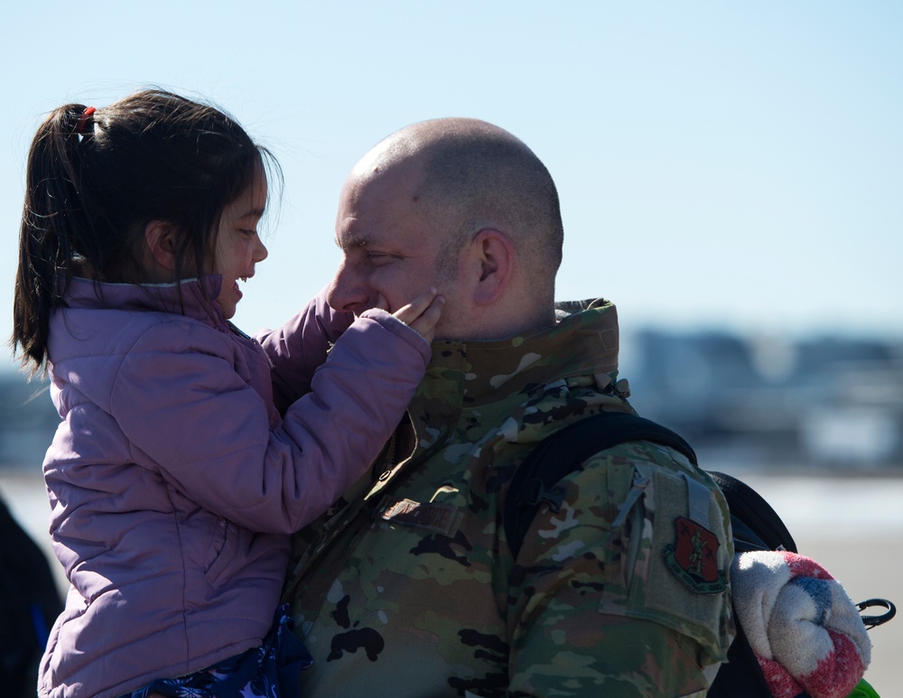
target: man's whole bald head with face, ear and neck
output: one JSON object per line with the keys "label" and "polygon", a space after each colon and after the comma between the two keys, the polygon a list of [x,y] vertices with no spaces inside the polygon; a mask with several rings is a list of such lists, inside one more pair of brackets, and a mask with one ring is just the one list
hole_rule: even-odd
{"label": "man's whole bald head with face, ear and neck", "polygon": [[355,166],[340,193],[336,310],[395,311],[430,285],[436,337],[488,340],[554,324],[562,221],[543,163],[475,119],[407,126]]}

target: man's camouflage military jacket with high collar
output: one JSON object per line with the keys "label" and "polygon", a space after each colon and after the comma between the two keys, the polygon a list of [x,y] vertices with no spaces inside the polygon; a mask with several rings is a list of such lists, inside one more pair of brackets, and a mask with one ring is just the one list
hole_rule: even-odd
{"label": "man's camouflage military jacket with high collar", "polygon": [[586,461],[517,559],[500,526],[537,442],[632,411],[617,355],[604,301],[533,335],[433,342],[413,453],[297,536],[306,695],[704,694],[730,643],[732,549],[721,493],[683,455],[633,442]]}

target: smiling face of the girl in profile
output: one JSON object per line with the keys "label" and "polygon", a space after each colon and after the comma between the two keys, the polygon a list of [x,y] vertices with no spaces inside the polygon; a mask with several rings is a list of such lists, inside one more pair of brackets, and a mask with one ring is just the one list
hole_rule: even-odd
{"label": "smiling face of the girl in profile", "polygon": [[265,206],[266,176],[261,169],[251,186],[223,210],[219,219],[212,272],[223,277],[217,303],[227,320],[235,315],[241,300],[238,280],[247,281],[254,275],[256,263],[266,258],[266,247],[257,233]]}

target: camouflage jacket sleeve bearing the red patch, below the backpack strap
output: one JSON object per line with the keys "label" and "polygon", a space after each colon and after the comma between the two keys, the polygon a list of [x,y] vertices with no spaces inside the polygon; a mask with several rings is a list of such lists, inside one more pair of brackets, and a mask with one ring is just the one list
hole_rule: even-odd
{"label": "camouflage jacket sleeve bearing the red patch, below the backpack strap", "polygon": [[[730,638],[732,551],[721,498],[697,472],[676,451],[637,442],[563,480],[563,507],[536,517],[513,568],[509,695],[704,695]],[[712,535],[696,543],[702,573],[684,579],[669,553],[692,490]]]}

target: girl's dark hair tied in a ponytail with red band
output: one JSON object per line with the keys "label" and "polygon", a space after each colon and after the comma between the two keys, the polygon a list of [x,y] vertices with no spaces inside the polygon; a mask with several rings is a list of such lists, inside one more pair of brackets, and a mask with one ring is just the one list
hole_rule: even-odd
{"label": "girl's dark hair tied in a ponytail with red band", "polygon": [[51,313],[72,275],[151,280],[143,265],[151,221],[177,230],[175,280],[203,275],[223,209],[266,165],[278,168],[233,118],[165,90],[94,111],[54,110],[27,162],[10,340],[23,365],[45,365]]}

